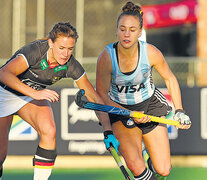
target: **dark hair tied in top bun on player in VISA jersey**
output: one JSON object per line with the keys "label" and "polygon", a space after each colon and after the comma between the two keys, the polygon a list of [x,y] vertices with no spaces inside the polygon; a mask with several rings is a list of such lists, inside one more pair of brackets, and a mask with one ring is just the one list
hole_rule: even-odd
{"label": "dark hair tied in top bun on player in VISA jersey", "polygon": [[139,18],[140,21],[140,29],[143,27],[143,12],[141,9],[140,5],[134,4],[132,1],[128,1],[122,8],[122,13],[119,15],[117,19],[117,27],[119,24],[119,20],[121,19],[122,16],[125,15],[131,15],[131,16],[136,16]]}

